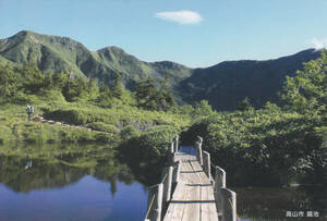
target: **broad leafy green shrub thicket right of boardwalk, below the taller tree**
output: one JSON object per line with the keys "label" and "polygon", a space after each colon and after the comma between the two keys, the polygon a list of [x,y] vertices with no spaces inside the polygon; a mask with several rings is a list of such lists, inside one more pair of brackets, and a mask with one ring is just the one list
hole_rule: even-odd
{"label": "broad leafy green shrub thicket right of boardwalk, below the taller tree", "polygon": [[312,171],[323,176],[322,138],[313,134],[322,123],[319,116],[276,108],[219,113],[196,122],[182,139],[203,136],[203,148],[227,170],[231,184],[284,185],[306,182]]}

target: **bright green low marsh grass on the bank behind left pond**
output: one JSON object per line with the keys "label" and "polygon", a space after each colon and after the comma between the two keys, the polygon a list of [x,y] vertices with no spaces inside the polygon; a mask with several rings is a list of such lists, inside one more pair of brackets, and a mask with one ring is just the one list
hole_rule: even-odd
{"label": "bright green low marsh grass on the bank behind left pond", "polygon": [[[0,144],[60,144],[60,143],[110,143],[119,144],[121,131],[124,138],[157,125],[185,128],[190,119],[175,112],[147,111],[136,107],[116,103],[101,108],[92,101],[66,102],[56,90],[44,96],[26,95],[26,102],[3,103],[0,108]],[[27,122],[26,105],[35,107],[33,116],[45,116],[64,124]],[[88,131],[90,128],[92,131]]]}

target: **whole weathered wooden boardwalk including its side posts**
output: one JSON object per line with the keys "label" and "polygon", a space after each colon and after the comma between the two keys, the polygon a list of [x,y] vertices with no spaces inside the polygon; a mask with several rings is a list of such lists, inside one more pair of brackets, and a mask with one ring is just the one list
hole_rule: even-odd
{"label": "whole weathered wooden boardwalk including its side posts", "polygon": [[179,148],[173,139],[161,182],[148,187],[144,221],[237,221],[237,195],[226,188],[225,170],[211,163],[202,142]]}

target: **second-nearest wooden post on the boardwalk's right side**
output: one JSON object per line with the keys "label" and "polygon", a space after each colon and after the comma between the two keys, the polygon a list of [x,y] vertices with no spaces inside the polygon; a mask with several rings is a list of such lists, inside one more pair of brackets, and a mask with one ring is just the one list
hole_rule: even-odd
{"label": "second-nearest wooden post on the boardwalk's right side", "polygon": [[221,188],[225,188],[225,187],[226,187],[226,172],[223,169],[216,165],[215,201],[216,201],[218,217],[221,217],[223,213],[223,197],[221,194]]}

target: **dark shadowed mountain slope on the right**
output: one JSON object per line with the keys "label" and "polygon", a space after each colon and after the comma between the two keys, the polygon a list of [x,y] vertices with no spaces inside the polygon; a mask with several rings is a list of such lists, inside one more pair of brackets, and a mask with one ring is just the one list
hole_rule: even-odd
{"label": "dark shadowed mountain slope on the right", "polygon": [[302,63],[318,58],[319,51],[308,49],[267,61],[226,61],[207,69],[196,69],[179,84],[186,102],[209,100],[217,110],[235,110],[245,97],[258,108],[266,101],[279,103],[277,93],[286,75],[294,76]]}

